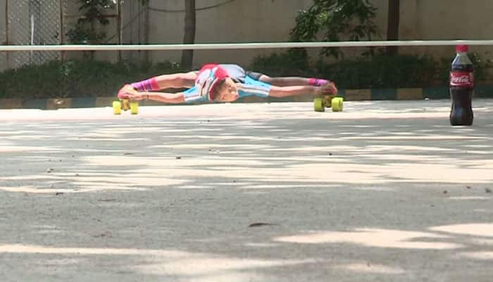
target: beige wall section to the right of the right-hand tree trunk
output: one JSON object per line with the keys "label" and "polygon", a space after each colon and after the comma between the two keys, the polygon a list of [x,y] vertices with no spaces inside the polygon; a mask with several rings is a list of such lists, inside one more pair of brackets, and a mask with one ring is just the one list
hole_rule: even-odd
{"label": "beige wall section to the right of the right-hand tree trunk", "polygon": [[[401,1],[402,40],[493,39],[491,0],[404,0]],[[493,46],[471,47],[482,56],[491,57]],[[405,53],[454,56],[454,47],[402,48]]]}

